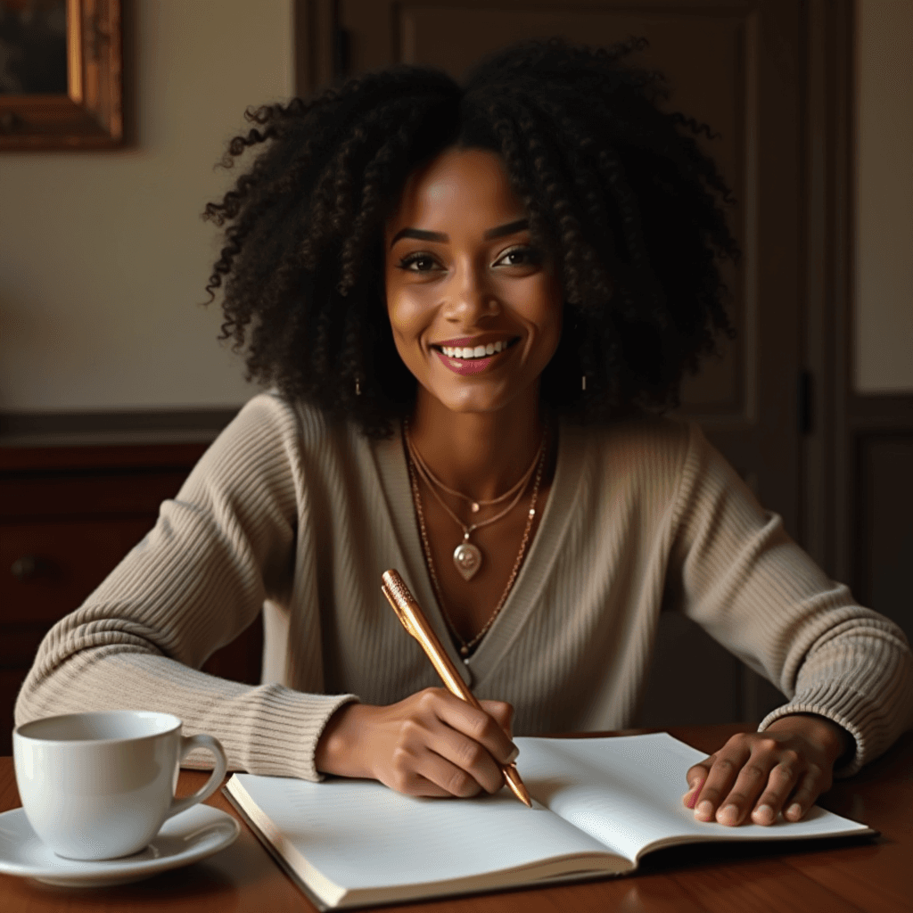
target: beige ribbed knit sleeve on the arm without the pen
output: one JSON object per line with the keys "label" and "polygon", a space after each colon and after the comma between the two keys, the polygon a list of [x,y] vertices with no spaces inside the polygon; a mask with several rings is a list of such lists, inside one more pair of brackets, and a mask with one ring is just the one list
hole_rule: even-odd
{"label": "beige ribbed knit sleeve on the arm without the pen", "polygon": [[692,426],[672,555],[684,611],[767,677],[792,713],[833,719],[856,742],[846,775],[913,724],[913,662],[900,628],[857,605],[765,512]]}

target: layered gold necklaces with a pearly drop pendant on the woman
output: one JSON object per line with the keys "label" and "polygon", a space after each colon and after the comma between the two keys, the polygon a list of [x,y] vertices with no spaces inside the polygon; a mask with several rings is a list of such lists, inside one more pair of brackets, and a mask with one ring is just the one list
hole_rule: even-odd
{"label": "layered gold necklaces with a pearly drop pendant on the woman", "polygon": [[[545,458],[548,454],[548,431],[547,429],[543,430],[539,450],[536,452],[536,456],[533,457],[533,460],[530,463],[530,467],[519,478],[519,481],[515,485],[511,486],[502,495],[498,495],[498,498],[491,498],[490,500],[470,498],[468,495],[463,494],[461,491],[456,491],[454,488],[448,488],[438,477],[436,477],[436,475],[425,463],[425,460],[418,452],[418,449],[415,447],[412,436],[409,434],[409,423],[407,421],[403,423],[403,437],[406,446],[406,455],[408,456],[406,462],[409,469],[409,479],[412,483],[412,497],[415,503],[415,515],[418,518],[418,528],[419,532],[421,533],[422,549],[425,551],[425,563],[428,566],[428,573],[431,577],[432,585],[435,588],[437,603],[441,607],[441,612],[444,614],[446,623],[449,625],[450,630],[453,632],[453,634],[456,636],[456,639],[460,643],[460,656],[463,656],[464,660],[467,660],[468,656],[472,652],[473,647],[475,647],[477,643],[488,633],[488,628],[494,624],[494,621],[498,617],[498,614],[503,608],[504,603],[507,601],[508,594],[513,587],[514,581],[517,579],[520,565],[523,563],[523,556],[526,553],[526,548],[530,541],[530,530],[532,529],[532,522],[536,517],[536,502],[539,498],[539,488],[542,481],[542,472],[545,468]],[[495,523],[499,519],[506,517],[510,511],[518,505],[520,498],[523,497],[523,493],[526,491],[527,485],[530,482],[530,477],[532,476],[533,472],[535,472],[536,477],[532,485],[532,497],[530,498],[530,509],[527,513],[526,527],[523,530],[523,538],[519,543],[517,559],[514,561],[513,568],[510,571],[507,585],[504,587],[504,592],[501,593],[501,598],[498,600],[498,604],[495,606],[494,612],[488,616],[488,621],[482,625],[481,630],[478,631],[471,640],[466,641],[456,629],[456,624],[453,623],[450,615],[447,614],[446,604],[444,603],[444,594],[441,590],[440,582],[437,579],[435,562],[431,555],[431,545],[428,541],[428,531],[425,528],[425,510],[422,508],[422,495],[421,491],[419,490],[418,479],[421,477],[425,481],[425,485],[435,496],[438,504],[440,504],[441,507],[446,510],[447,515],[456,522],[456,525],[459,526],[461,530],[463,530],[463,541],[460,542],[454,549],[453,561],[456,570],[460,573],[460,576],[462,576],[462,578],[468,582],[472,580],[472,578],[476,575],[479,568],[482,566],[482,562],[484,561],[482,551],[478,548],[477,545],[469,540],[469,537],[473,532],[481,529],[483,526],[488,526],[489,524]],[[493,507],[497,504],[502,504],[507,500],[509,500],[509,504],[506,508],[499,510],[498,513],[496,513],[493,517],[488,517],[487,519],[479,520],[476,523],[470,523],[467,525],[463,522],[462,519],[457,516],[454,510],[450,509],[450,506],[446,503],[443,496],[440,494],[442,491],[446,492],[446,494],[451,495],[454,498],[459,498],[460,500],[466,501],[472,513],[477,513],[483,507]]]}

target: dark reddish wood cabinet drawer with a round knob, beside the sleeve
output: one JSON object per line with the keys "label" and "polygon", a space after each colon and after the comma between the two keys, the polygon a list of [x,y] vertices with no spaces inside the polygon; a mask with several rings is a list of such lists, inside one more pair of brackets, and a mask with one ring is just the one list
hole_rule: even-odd
{"label": "dark reddish wood cabinet drawer with a round knob, beside the sleeve", "polygon": [[152,516],[0,523],[0,623],[72,612],[152,529]]}

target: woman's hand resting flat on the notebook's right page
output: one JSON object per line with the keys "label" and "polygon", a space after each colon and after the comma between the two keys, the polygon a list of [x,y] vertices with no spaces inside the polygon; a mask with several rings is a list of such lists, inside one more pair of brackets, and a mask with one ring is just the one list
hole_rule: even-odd
{"label": "woman's hand resting flat on the notebook's right page", "polygon": [[698,821],[773,824],[781,811],[787,821],[799,821],[831,788],[834,762],[849,749],[850,739],[824,717],[781,717],[763,732],[733,736],[690,768],[683,801]]}

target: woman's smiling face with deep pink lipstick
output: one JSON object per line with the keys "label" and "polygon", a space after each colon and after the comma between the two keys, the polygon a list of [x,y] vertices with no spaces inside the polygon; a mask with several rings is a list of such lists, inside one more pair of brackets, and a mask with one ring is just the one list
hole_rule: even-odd
{"label": "woman's smiling face with deep pink lipstick", "polygon": [[561,285],[534,247],[500,156],[450,149],[411,175],[387,223],[394,341],[423,391],[454,412],[538,402],[561,335]]}

